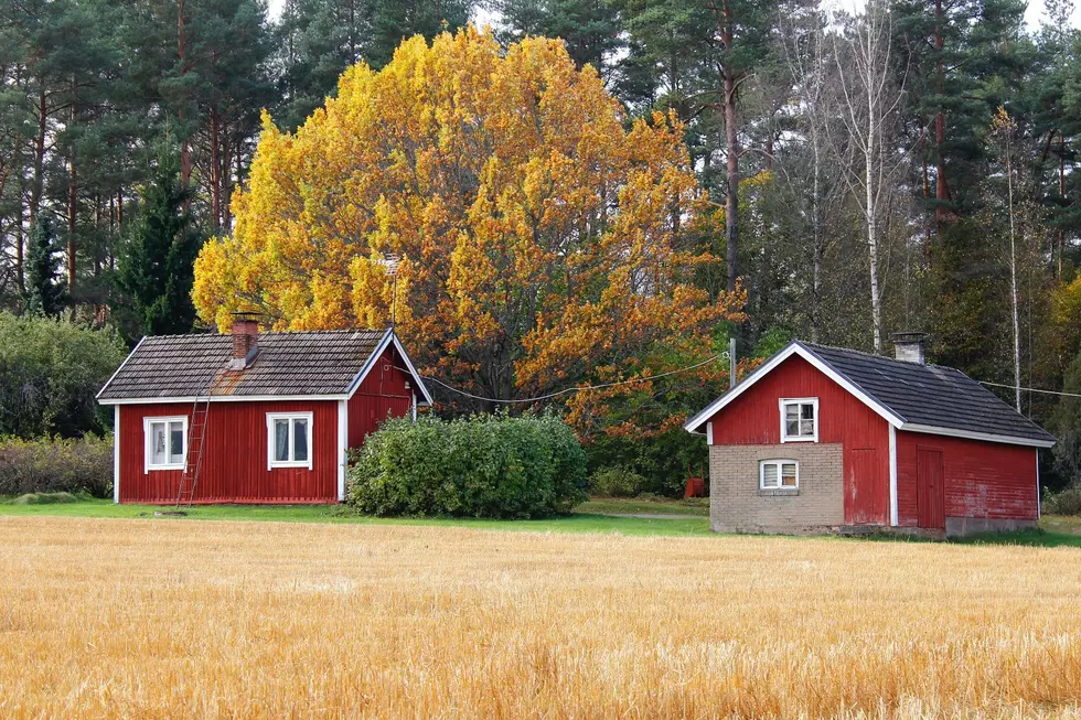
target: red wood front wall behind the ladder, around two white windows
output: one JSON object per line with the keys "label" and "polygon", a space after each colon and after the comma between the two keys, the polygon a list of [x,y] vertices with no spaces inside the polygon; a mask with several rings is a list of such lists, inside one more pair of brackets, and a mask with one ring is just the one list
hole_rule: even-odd
{"label": "red wood front wall behind the ladder, around two white windows", "polygon": [[[181,471],[143,472],[146,417],[188,416],[191,404],[120,406],[120,502],[175,502]],[[312,469],[267,469],[267,413],[312,413]],[[338,501],[338,402],[212,402],[193,502]]]}

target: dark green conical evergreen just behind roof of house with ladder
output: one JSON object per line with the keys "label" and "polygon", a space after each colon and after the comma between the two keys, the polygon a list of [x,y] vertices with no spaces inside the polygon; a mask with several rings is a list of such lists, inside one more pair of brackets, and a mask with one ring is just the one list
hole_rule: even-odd
{"label": "dark green conical evergreen just behind roof of house with ladder", "polygon": [[175,149],[163,143],[120,256],[117,287],[130,299],[140,332],[179,334],[195,320],[191,290],[203,235],[185,209],[190,190]]}

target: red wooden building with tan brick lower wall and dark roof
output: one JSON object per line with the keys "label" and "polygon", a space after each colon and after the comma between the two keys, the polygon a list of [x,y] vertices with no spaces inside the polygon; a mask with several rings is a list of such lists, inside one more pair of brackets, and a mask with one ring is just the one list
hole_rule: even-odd
{"label": "red wooden building with tan brick lower wall and dark roof", "polygon": [[922,334],[887,358],[794,341],[686,423],[709,444],[717,531],[885,527],[965,535],[1039,519],[1037,452],[1055,438]]}

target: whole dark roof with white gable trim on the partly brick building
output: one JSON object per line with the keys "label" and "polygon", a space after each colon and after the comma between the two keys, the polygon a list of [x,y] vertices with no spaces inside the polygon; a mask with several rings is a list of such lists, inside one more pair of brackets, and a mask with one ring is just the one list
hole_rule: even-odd
{"label": "whole dark roof with white gable trim on the partly brick building", "polygon": [[1050,448],[1055,437],[961,370],[793,341],[684,426],[698,432],[718,410],[800,355],[898,430]]}

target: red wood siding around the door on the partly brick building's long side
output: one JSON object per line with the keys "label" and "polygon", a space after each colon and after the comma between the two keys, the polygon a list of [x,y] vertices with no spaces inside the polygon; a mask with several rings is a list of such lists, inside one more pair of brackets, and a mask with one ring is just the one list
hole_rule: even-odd
{"label": "red wood siding around the door on the partly brick building's long side", "polygon": [[1035,520],[1039,517],[1036,449],[897,431],[898,523],[919,519],[917,450],[942,451],[946,517]]}

